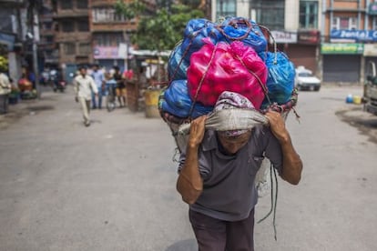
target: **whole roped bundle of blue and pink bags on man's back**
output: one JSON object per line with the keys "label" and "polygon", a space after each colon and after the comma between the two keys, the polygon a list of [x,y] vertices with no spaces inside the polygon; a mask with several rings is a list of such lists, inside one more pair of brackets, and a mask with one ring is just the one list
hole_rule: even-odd
{"label": "whole roped bundle of blue and pink bags on man's back", "polygon": [[158,104],[164,120],[181,124],[209,114],[224,91],[246,96],[261,112],[290,109],[297,98],[294,65],[269,51],[271,41],[266,27],[243,17],[190,20],[168,59],[169,85]]}

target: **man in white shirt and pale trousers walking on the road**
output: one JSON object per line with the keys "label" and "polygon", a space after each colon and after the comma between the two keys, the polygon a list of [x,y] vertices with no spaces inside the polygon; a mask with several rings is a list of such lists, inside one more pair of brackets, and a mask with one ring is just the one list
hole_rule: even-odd
{"label": "man in white shirt and pale trousers walking on the road", "polygon": [[87,68],[80,67],[80,74],[74,78],[75,100],[79,102],[84,116],[84,125],[90,126],[90,101],[92,93],[98,94],[97,85],[90,75],[87,75]]}

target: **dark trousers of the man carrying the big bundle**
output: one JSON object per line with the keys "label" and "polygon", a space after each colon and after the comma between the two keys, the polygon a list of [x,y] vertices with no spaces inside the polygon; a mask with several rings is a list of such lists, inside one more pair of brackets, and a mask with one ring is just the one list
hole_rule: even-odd
{"label": "dark trousers of the man carrying the big bundle", "polygon": [[189,210],[199,251],[254,251],[254,209],[240,221],[224,221]]}

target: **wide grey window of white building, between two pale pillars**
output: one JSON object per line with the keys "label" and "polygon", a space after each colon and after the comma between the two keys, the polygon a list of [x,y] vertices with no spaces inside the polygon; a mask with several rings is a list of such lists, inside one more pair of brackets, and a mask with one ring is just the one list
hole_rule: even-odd
{"label": "wide grey window of white building, between two pale pillars", "polygon": [[270,30],[284,29],[285,1],[252,0],[251,5],[255,9],[257,23],[269,27]]}

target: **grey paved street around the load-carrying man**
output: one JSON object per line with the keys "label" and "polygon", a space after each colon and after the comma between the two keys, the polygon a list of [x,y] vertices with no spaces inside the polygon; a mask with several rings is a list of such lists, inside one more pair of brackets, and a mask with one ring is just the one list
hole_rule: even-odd
{"label": "grey paved street around the load-carrying man", "polygon": [[[345,104],[348,94],[362,87],[300,93],[300,123],[290,114],[287,126],[301,183],[279,178],[277,241],[270,216],[255,226],[256,250],[377,250],[377,118]],[[1,251],[197,250],[162,119],[103,109],[85,127],[71,88],[10,110],[0,116]],[[256,220],[269,210],[267,195]]]}

